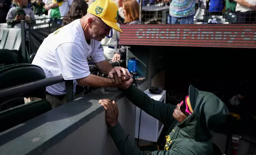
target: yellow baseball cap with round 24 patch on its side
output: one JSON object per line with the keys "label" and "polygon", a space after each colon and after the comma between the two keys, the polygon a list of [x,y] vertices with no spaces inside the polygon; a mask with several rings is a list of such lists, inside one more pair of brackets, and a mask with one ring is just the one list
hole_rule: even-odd
{"label": "yellow baseball cap with round 24 patch on its side", "polygon": [[116,24],[118,18],[118,7],[112,0],[95,0],[89,8],[87,12],[95,15],[104,23],[109,25],[111,28],[114,28],[118,32],[122,32],[119,26]]}

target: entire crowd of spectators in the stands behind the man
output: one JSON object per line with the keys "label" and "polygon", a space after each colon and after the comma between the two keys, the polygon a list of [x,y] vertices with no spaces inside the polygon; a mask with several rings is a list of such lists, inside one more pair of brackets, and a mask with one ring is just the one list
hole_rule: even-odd
{"label": "entire crowd of spectators in the stands behind the man", "polygon": [[[20,28],[23,19],[35,19],[47,15],[58,17],[62,26],[80,19],[87,13],[88,6],[95,0],[0,0],[0,23]],[[256,23],[256,0],[142,0],[142,5],[169,6],[168,24],[193,24],[196,5],[206,10],[206,15],[234,13],[239,24]],[[114,0],[118,6],[118,24],[139,24],[140,0]],[[63,19],[61,17],[64,17]],[[27,20],[25,27],[35,21]],[[126,58],[126,47],[118,45],[119,32],[111,30],[102,40],[105,57],[109,61]]]}

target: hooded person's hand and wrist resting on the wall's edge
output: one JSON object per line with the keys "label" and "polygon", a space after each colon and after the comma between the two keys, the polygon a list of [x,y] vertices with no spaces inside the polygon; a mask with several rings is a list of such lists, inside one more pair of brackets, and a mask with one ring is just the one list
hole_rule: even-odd
{"label": "hooded person's hand and wrist resting on the wall's edge", "polygon": [[109,99],[102,99],[99,100],[99,103],[104,107],[106,110],[105,117],[106,123],[108,127],[114,127],[118,124],[118,108],[116,102],[112,102]]}

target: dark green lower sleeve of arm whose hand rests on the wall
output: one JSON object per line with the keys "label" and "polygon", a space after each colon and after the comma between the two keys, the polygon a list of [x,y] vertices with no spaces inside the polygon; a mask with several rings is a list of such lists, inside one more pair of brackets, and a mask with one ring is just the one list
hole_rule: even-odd
{"label": "dark green lower sleeve of arm whose hand rests on the wall", "polygon": [[144,153],[143,151],[140,151],[140,149],[134,143],[130,142],[128,139],[129,135],[124,132],[119,123],[112,127],[109,132],[121,155],[196,155],[194,151],[186,146],[177,146],[168,151],[165,150]]}

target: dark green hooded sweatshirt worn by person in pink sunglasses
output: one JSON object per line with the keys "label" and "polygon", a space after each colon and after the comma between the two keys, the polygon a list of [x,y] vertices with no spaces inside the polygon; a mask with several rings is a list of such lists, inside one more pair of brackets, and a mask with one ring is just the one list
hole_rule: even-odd
{"label": "dark green hooded sweatshirt worn by person in pink sunglasses", "polygon": [[[155,101],[143,91],[131,85],[120,91],[134,105],[161,121],[169,128],[163,151],[144,153],[128,140],[120,124],[110,129],[111,137],[121,155],[212,155],[210,130],[223,123],[229,113],[225,104],[213,93],[189,87],[189,99],[193,113],[181,123],[173,117],[176,106]],[[185,99],[185,98],[184,98]]]}

